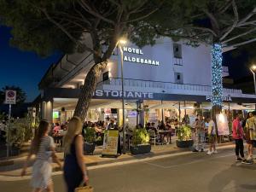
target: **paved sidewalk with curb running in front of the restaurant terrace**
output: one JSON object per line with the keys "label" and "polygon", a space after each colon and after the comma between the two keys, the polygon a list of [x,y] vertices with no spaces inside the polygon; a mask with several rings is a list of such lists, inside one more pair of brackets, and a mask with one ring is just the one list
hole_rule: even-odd
{"label": "paved sidewalk with curb running in front of the restaurant terrace", "polygon": [[[218,144],[218,147],[221,148],[232,148],[234,147],[233,143],[221,143]],[[114,166],[120,165],[120,164],[125,164],[125,162],[132,161],[136,162],[138,160],[150,160],[150,159],[155,159],[156,157],[161,158],[161,156],[165,156],[168,154],[182,154],[183,152],[190,153],[189,148],[177,148],[176,143],[173,142],[172,144],[169,145],[156,145],[152,146],[151,152],[149,154],[137,154],[137,155],[132,155],[130,153],[127,154],[122,154],[118,158],[102,158],[102,148],[97,147],[95,150],[95,153],[93,155],[84,155],[84,163],[86,166],[90,167],[95,167],[95,166]],[[192,153],[192,152],[191,152]],[[57,153],[58,157],[60,158],[61,162],[63,162],[63,153]],[[0,176],[9,176],[9,177],[19,177],[21,168],[24,164],[24,161],[26,160],[25,154],[21,155],[18,158],[11,159],[14,160],[14,165],[10,166],[0,166]],[[1,164],[0,160],[0,164]],[[27,168],[27,174],[31,175],[32,173],[32,163],[31,161],[29,163],[29,167]],[[60,171],[59,167],[57,167],[56,164],[53,164],[53,171],[57,172]]]}

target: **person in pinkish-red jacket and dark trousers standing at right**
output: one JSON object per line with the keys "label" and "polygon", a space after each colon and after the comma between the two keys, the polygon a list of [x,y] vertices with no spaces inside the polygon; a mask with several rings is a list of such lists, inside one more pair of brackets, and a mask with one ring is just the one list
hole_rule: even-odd
{"label": "person in pinkish-red jacket and dark trousers standing at right", "polygon": [[[236,142],[236,162],[245,162],[244,153],[243,153],[243,129],[241,127],[241,116],[236,114],[236,119],[232,123],[232,136]],[[240,155],[239,155],[240,154]]]}

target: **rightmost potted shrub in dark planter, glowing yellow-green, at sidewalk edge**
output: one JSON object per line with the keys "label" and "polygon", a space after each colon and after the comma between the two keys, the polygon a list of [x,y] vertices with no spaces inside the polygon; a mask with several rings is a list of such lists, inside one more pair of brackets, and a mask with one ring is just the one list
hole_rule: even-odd
{"label": "rightmost potted shrub in dark planter, glowing yellow-green, at sidewalk edge", "polygon": [[191,139],[192,131],[189,125],[183,125],[177,129],[177,147],[178,148],[191,148],[194,141]]}

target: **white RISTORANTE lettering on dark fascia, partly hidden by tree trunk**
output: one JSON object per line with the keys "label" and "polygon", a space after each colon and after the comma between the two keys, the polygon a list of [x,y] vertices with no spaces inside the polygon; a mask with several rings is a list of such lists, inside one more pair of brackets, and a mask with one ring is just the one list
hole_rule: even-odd
{"label": "white RISTORANTE lettering on dark fascia, partly hidden by tree trunk", "polygon": [[[96,90],[93,94],[98,98],[121,98],[123,92],[121,90]],[[153,99],[154,94],[149,92],[125,91],[126,99]]]}

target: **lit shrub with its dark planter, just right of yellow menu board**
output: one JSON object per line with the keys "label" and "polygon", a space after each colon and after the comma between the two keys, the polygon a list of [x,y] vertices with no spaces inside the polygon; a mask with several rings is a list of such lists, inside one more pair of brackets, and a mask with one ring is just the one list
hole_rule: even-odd
{"label": "lit shrub with its dark planter, just right of yellow menu board", "polygon": [[132,136],[131,154],[146,154],[151,151],[149,144],[148,131],[143,129],[134,129]]}

